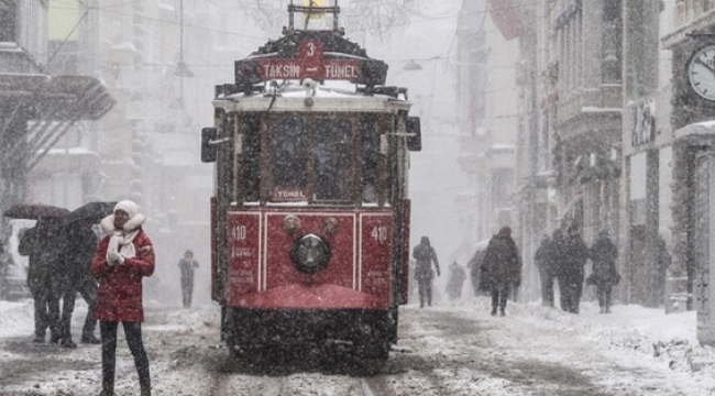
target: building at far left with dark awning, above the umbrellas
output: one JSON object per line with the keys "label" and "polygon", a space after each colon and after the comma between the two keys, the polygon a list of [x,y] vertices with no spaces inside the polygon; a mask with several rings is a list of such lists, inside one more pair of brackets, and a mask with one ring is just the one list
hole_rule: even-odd
{"label": "building at far left with dark awning, above the umbrellas", "polygon": [[[58,142],[96,133],[114,105],[106,87],[81,67],[64,67],[80,53],[77,35],[53,37],[53,1],[0,1],[0,210],[24,201],[61,205],[62,191],[91,194],[96,153],[57,150]],[[76,31],[76,30],[75,30]],[[64,50],[64,54],[59,54]],[[77,61],[79,58],[77,57]],[[75,65],[79,66],[79,65]],[[64,180],[57,180],[63,175]],[[68,186],[64,188],[63,186]]]}

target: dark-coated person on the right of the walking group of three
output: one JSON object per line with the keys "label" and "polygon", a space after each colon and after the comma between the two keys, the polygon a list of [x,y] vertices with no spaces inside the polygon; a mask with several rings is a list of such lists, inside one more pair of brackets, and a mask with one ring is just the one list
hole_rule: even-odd
{"label": "dark-coated person on the right of the walking group of three", "polygon": [[608,238],[608,231],[598,233],[598,239],[591,246],[590,256],[593,272],[588,276],[588,284],[596,286],[601,314],[610,314],[610,290],[620,280],[620,275],[616,271],[618,248]]}

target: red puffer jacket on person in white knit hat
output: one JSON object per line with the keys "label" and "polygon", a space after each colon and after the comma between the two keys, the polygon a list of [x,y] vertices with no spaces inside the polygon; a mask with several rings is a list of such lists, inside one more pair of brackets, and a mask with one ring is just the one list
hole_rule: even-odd
{"label": "red puffer jacket on person in white knit hat", "polygon": [[99,242],[91,266],[92,275],[99,280],[96,317],[117,322],[143,321],[142,277],[154,273],[152,241],[140,230],[132,241],[136,255],[124,258],[123,265],[110,266],[107,264],[109,239],[105,237]]}

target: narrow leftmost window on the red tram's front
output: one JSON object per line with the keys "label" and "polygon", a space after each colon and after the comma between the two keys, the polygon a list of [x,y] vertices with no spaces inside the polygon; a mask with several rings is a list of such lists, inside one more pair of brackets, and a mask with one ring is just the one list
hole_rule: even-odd
{"label": "narrow leftmost window on the red tram's front", "polygon": [[261,116],[243,119],[243,201],[258,201],[261,187]]}

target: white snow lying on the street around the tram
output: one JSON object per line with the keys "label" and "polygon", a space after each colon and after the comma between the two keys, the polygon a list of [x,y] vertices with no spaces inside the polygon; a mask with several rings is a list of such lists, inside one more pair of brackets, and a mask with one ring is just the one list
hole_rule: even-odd
{"label": "white snow lying on the street around the tram", "polygon": [[[187,382],[193,383],[194,386],[199,386],[201,381],[208,380],[204,378],[205,367],[202,369],[191,359],[183,359],[183,354],[191,354],[197,348],[218,342],[216,340],[218,308],[213,305],[208,305],[191,308],[190,310],[183,310],[176,307],[163,306],[155,301],[147,302],[146,308],[147,314],[154,312],[152,315],[154,318],[147,318],[147,322],[144,326],[145,341],[150,345],[150,350],[152,344],[156,345],[156,342],[166,345],[167,350],[176,348],[173,349],[172,359],[157,359],[152,362],[154,393],[157,395],[191,394],[190,391],[186,393]],[[74,329],[81,327],[86,309],[87,306],[84,301],[78,299],[73,320]],[[693,311],[666,315],[662,309],[649,309],[635,305],[616,305],[613,308],[613,314],[601,315],[598,314],[597,306],[592,302],[583,302],[580,315],[570,315],[559,309],[541,307],[539,304],[510,302],[507,307],[507,318],[491,318],[486,314],[488,311],[488,300],[486,297],[469,297],[457,304],[442,304],[426,308],[425,310],[420,310],[415,305],[409,305],[403,309],[410,312],[407,316],[403,315],[403,318],[413,318],[413,323],[409,323],[409,331],[413,334],[413,339],[404,341],[411,341],[415,346],[422,345],[428,351],[421,352],[425,352],[427,355],[449,356],[461,353],[461,351],[454,350],[453,343],[449,339],[437,337],[438,333],[435,331],[435,327],[429,328],[427,322],[419,322],[421,319],[428,318],[431,315],[430,311],[436,311],[435,314],[441,312],[450,317],[464,318],[465,326],[474,326],[474,322],[479,322],[485,326],[520,327],[521,329],[513,329],[516,330],[513,333],[525,334],[529,334],[531,331],[543,334],[544,330],[547,330],[547,333],[556,334],[557,339],[562,340],[564,343],[573,342],[575,344],[576,340],[579,340],[578,342],[582,344],[583,340],[586,340],[587,344],[593,343],[597,345],[597,349],[608,356],[616,356],[618,362],[622,362],[622,364],[625,363],[625,366],[631,364],[634,367],[651,367],[652,373],[663,373],[662,378],[645,380],[646,383],[652,382],[653,388],[657,388],[659,381],[666,383],[670,381],[678,382],[680,388],[685,387],[690,389],[686,393],[689,396],[704,396],[715,389],[715,352],[711,346],[698,345],[695,334],[695,312]],[[29,342],[32,339],[33,332],[32,312],[33,304],[31,300],[16,302],[0,301],[0,344],[3,343],[2,339],[16,340],[18,338],[26,338]],[[158,312],[162,315],[158,315]],[[444,323],[443,326],[450,327],[458,324]],[[164,334],[165,331],[175,334],[176,340],[162,340],[161,334]],[[472,332],[474,329],[461,329],[460,331]],[[77,333],[76,330],[75,332]],[[415,334],[417,334],[417,338],[414,337]],[[77,336],[75,334],[76,338]],[[156,338],[157,336],[160,336],[160,339]],[[179,342],[179,338],[183,341]],[[497,340],[498,342],[501,340]],[[540,342],[548,345],[546,340],[528,340],[528,337],[525,340],[520,340],[520,342],[531,342],[534,343],[534,348],[539,348]],[[120,343],[120,345],[122,344]],[[568,364],[570,356],[561,351],[562,349],[544,350],[540,360],[547,363]],[[222,353],[224,352],[223,350]],[[77,372],[53,374],[44,380],[45,383],[37,385],[36,393],[23,392],[18,393],[18,395],[84,395],[96,393],[100,376],[99,350],[92,345],[80,345],[79,349],[66,351],[66,353],[86,355],[84,359],[94,364],[96,369],[91,369],[89,372],[82,372],[81,375],[78,375]],[[122,356],[121,362],[123,362],[118,363],[118,370],[127,373],[125,380],[118,381],[118,395],[130,395],[135,391],[133,387],[136,384],[136,380],[133,374],[131,358],[125,348],[119,348],[118,350],[118,356]],[[130,359],[128,360],[128,358]],[[499,356],[496,355],[495,358],[498,359]],[[0,395],[7,394],[2,392],[2,366],[8,362],[14,362],[18,356],[11,349],[0,349]],[[393,358],[392,360],[395,359]],[[593,367],[586,369],[596,371],[604,370],[601,367],[600,362],[595,361],[593,362]],[[628,380],[624,380],[624,376],[617,375],[617,367],[606,367],[605,370],[614,371],[613,377],[607,377],[606,381],[628,382]],[[243,377],[252,377],[250,373],[244,374]],[[449,372],[437,370],[435,374],[443,377],[446,384],[452,384],[449,385],[450,387],[454,386],[458,389],[470,388],[480,395],[529,394],[499,389],[498,382],[504,382],[504,380],[496,377],[488,381],[484,378],[475,380],[473,374],[468,370],[449,369]],[[387,373],[387,375],[389,376],[391,374]],[[310,373],[295,373],[286,377],[285,381],[292,384],[296,381],[309,381],[310,376]],[[274,387],[275,381],[277,381],[274,377],[265,376],[253,376],[253,384],[257,388]],[[326,381],[331,384],[330,386],[332,388],[322,389],[319,393],[305,394],[348,394],[341,392],[339,377],[327,376],[326,378],[328,378]],[[336,381],[334,383],[331,382],[333,380]],[[405,392],[409,393],[409,388],[414,391],[419,389],[421,385],[418,383],[422,380],[416,378],[414,383],[408,378],[394,381],[399,381],[400,387],[405,387]],[[648,389],[642,389],[641,383],[630,384],[631,387],[638,387],[638,393],[619,393],[619,395],[649,394]],[[212,385],[207,383],[200,386],[206,389]],[[628,388],[629,384],[624,384],[624,386]],[[73,393],[57,393],[57,391],[51,391],[53,387],[55,389],[74,391]],[[191,388],[191,386],[188,386],[188,388]],[[223,391],[228,389],[226,388]],[[208,394],[220,393],[210,392]],[[405,395],[408,393],[405,393]],[[353,393],[351,392],[350,394]],[[454,393],[454,395],[457,394],[465,393]],[[662,393],[654,394],[662,395]]]}

